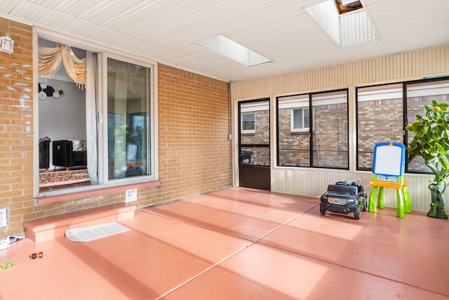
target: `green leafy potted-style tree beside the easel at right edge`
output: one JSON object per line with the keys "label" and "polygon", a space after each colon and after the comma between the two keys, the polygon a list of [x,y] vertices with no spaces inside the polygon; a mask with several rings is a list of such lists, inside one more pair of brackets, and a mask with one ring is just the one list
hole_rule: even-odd
{"label": "green leafy potted-style tree beside the easel at right edge", "polygon": [[424,117],[416,115],[415,123],[406,126],[406,130],[415,134],[407,148],[408,162],[421,156],[434,172],[434,181],[429,184],[431,202],[427,216],[438,219],[448,219],[441,197],[446,188],[446,177],[449,176],[448,107],[448,103],[432,100],[431,105],[424,105]]}

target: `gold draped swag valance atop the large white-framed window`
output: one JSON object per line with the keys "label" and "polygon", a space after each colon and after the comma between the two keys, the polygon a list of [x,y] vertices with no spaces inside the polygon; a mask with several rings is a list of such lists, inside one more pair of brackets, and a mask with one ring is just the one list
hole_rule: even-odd
{"label": "gold draped swag valance atop the large white-framed window", "polygon": [[67,75],[78,86],[86,85],[86,58],[77,58],[67,45],[56,45],[54,48],[39,46],[39,76],[47,76],[56,72],[61,62]]}

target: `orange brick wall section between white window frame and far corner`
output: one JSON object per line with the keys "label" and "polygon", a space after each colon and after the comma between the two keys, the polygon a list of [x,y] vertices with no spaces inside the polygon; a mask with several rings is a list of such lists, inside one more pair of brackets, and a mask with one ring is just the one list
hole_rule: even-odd
{"label": "orange brick wall section between white window frame and far corner", "polygon": [[228,84],[159,65],[161,200],[232,184]]}

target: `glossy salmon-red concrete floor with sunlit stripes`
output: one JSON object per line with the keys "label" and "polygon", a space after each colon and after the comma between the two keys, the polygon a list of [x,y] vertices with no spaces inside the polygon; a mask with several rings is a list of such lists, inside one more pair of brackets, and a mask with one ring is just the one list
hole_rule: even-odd
{"label": "glossy salmon-red concrete floor with sunlit stripes", "polygon": [[[0,250],[0,299],[449,299],[449,223],[228,188],[136,211],[131,230]],[[33,252],[41,259],[29,259]]]}

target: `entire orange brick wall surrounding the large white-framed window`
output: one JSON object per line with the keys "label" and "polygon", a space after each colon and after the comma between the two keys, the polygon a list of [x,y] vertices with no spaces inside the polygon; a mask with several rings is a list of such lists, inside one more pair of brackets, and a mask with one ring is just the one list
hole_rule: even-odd
{"label": "entire orange brick wall surrounding the large white-framed window", "polygon": [[[42,216],[124,202],[125,190],[34,204],[32,27],[0,18],[0,35],[6,32],[15,47],[0,52],[0,209],[8,209],[0,237],[23,234],[25,221]],[[229,84],[166,65],[158,76],[161,185],[139,189],[138,208],[232,185]]]}

